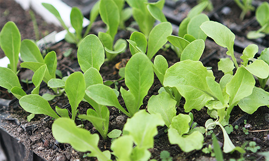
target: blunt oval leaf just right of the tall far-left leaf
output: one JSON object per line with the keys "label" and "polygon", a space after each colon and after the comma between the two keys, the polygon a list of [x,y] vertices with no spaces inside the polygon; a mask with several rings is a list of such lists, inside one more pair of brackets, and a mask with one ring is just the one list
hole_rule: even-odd
{"label": "blunt oval leaf just right of the tall far-left leaf", "polygon": [[44,63],[44,59],[37,45],[29,39],[21,41],[20,56],[23,62],[39,62]]}

